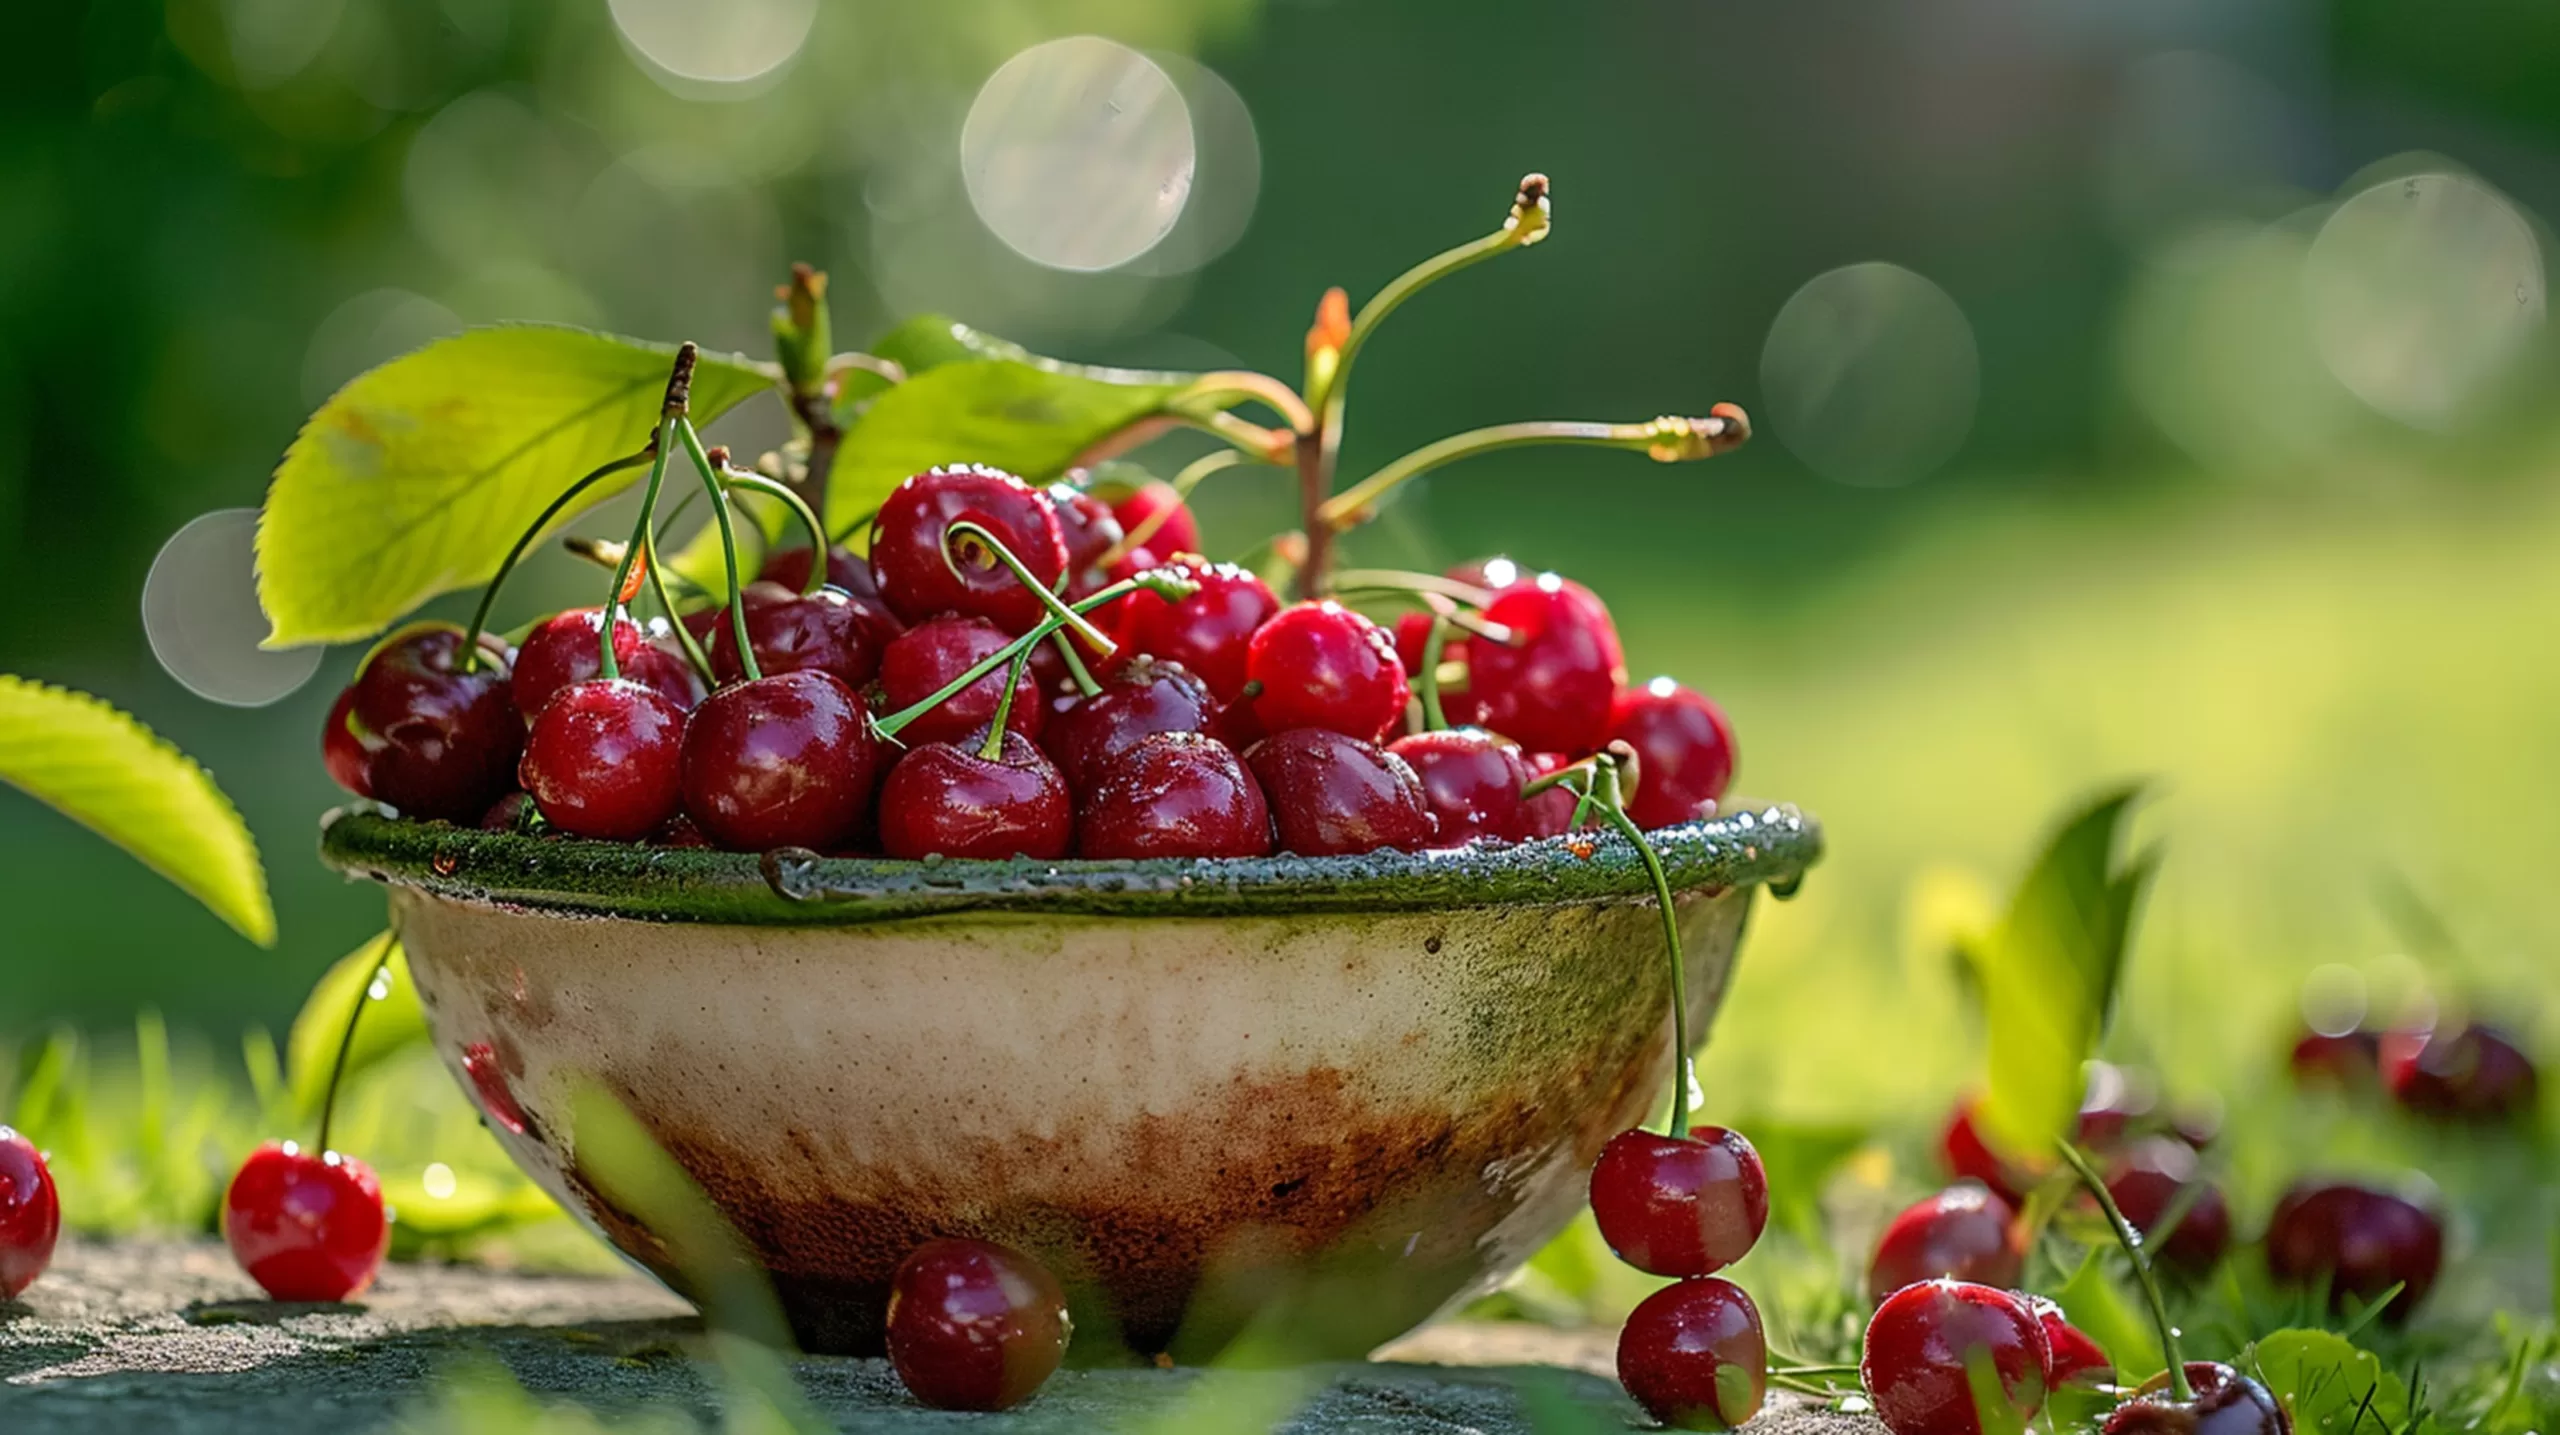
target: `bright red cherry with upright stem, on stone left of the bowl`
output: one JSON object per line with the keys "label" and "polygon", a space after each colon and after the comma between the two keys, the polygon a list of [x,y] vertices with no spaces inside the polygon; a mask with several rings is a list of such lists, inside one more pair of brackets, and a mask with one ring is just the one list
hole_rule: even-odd
{"label": "bright red cherry with upright stem, on stone left of the bowl", "polygon": [[274,1299],[348,1299],[374,1284],[392,1220],[364,1161],[269,1141],[223,1192],[223,1241]]}

